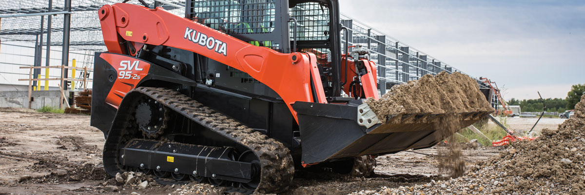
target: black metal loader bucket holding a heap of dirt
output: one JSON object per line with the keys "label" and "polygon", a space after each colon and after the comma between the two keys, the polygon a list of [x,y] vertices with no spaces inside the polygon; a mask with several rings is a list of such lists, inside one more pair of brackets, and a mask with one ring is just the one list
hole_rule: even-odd
{"label": "black metal loader bucket holding a heap of dirt", "polygon": [[[382,124],[363,100],[347,104],[295,102],[292,108],[297,111],[304,165],[329,159],[429,148],[450,136],[439,135],[436,125],[446,114],[387,115],[383,116],[387,122]],[[460,128],[464,128],[491,112],[450,115],[455,115]]]}

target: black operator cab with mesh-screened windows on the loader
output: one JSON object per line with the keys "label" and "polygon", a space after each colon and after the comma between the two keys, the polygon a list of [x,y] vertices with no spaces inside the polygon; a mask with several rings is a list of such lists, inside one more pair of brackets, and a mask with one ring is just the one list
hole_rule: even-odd
{"label": "black operator cab with mesh-screened windows on the loader", "polygon": [[[281,53],[314,53],[325,95],[340,96],[342,45],[337,1],[191,0],[185,14],[252,45]],[[230,71],[232,75],[239,72]],[[253,80],[243,72],[237,74],[243,76],[242,81]]]}

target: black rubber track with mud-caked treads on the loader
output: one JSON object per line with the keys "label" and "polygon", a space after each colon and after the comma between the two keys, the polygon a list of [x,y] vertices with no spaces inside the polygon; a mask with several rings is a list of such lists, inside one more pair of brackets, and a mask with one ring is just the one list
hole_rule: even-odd
{"label": "black rubber track with mud-caked treads on the loader", "polygon": [[290,151],[282,143],[205,107],[178,91],[152,87],[138,87],[130,91],[118,108],[104,145],[104,169],[109,175],[115,176],[116,173],[125,171],[118,162],[118,150],[123,143],[132,139],[126,135],[137,131],[136,125],[129,121],[133,121],[133,109],[139,102],[137,100],[144,96],[157,100],[171,111],[253,150],[260,159],[261,166],[260,183],[255,192],[278,193],[286,190],[292,181],[294,163]]}

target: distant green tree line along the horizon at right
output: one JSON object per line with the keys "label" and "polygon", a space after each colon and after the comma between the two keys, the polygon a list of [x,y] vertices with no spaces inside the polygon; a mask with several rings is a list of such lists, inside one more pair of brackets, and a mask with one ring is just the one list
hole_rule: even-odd
{"label": "distant green tree line along the horizon at right", "polygon": [[[571,87],[567,97],[562,98],[546,98],[543,99],[546,105],[546,112],[565,112],[566,110],[575,109],[575,105],[581,99],[581,95],[585,94],[585,84],[576,84]],[[530,100],[516,100],[512,98],[508,101],[508,105],[520,105],[522,112],[540,112],[542,111],[542,101],[540,99]]]}

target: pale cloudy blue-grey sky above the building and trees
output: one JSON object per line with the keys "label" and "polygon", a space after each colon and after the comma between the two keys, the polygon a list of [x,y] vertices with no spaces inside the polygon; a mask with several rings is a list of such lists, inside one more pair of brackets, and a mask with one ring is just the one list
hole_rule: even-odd
{"label": "pale cloudy blue-grey sky above the building and trees", "polygon": [[506,100],[585,84],[585,1],[339,0],[340,11],[474,77]]}

